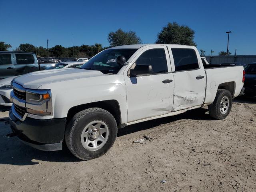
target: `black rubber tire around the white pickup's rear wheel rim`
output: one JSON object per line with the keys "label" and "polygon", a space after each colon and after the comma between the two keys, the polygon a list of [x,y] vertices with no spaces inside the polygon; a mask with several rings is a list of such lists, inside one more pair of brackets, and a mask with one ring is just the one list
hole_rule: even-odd
{"label": "black rubber tire around the white pickup's rear wheel rim", "polygon": [[[220,110],[220,102],[221,102],[222,98],[224,98],[225,96],[229,100],[229,105],[228,105],[228,109],[227,109],[226,113],[222,114],[221,110]],[[218,89],[216,97],[214,99],[214,102],[212,104],[208,105],[208,110],[209,110],[210,116],[212,116],[213,118],[218,119],[218,120],[226,118],[226,116],[228,116],[231,108],[232,108],[232,95],[226,89]]]}

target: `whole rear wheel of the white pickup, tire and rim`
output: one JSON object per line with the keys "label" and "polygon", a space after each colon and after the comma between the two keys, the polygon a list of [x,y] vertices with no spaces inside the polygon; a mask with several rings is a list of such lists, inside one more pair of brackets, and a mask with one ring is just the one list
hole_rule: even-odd
{"label": "whole rear wheel of the white pickup, tire and rim", "polygon": [[218,120],[226,118],[232,107],[232,95],[226,89],[218,89],[215,100],[208,105],[209,114]]}

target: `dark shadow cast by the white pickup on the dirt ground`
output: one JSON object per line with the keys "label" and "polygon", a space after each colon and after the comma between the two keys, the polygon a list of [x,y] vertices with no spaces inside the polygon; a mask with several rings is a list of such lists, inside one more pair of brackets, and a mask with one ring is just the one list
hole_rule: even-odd
{"label": "dark shadow cast by the white pickup on the dirt ground", "polygon": [[[170,116],[166,118],[160,118],[156,120],[150,120],[127,126],[118,130],[118,136],[123,136],[133,132],[146,130],[158,126],[160,124],[166,124],[175,122],[180,119],[193,119],[193,120],[214,120],[210,117],[207,109],[199,108],[190,110],[183,114],[176,116]],[[2,120],[2,119],[1,119]],[[12,165],[33,165],[38,164],[38,160],[49,162],[77,162],[80,161],[74,157],[66,147],[62,151],[45,152],[36,150],[25,144],[22,144],[18,138],[6,138],[5,135],[9,134],[10,127],[5,125],[0,120],[0,164],[12,164]]]}

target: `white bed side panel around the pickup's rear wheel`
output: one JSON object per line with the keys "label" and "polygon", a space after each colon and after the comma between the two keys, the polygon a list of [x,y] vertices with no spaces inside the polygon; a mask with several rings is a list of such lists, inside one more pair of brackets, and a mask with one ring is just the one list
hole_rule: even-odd
{"label": "white bed side panel around the pickup's rear wheel", "polygon": [[225,82],[235,83],[235,91],[233,97],[238,96],[244,86],[244,83],[242,82],[243,70],[243,66],[205,69],[207,81],[206,98],[204,100],[204,104],[211,104],[214,101],[218,86]]}

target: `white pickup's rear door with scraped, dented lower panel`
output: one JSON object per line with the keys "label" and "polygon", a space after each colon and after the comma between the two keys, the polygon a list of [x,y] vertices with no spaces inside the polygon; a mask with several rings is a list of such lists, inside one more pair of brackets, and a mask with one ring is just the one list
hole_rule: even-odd
{"label": "white pickup's rear door with scraped, dented lower panel", "polygon": [[204,102],[206,74],[198,52],[191,48],[170,48],[174,75],[173,111],[200,106]]}

